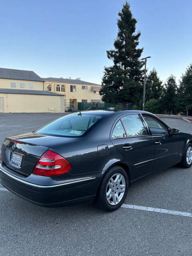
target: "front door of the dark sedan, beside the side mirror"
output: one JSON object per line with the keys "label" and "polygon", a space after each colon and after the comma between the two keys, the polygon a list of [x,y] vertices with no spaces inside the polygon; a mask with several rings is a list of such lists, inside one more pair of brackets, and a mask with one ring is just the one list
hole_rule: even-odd
{"label": "front door of the dark sedan, beside the side mirror", "polygon": [[150,115],[142,115],[155,144],[154,171],[166,169],[176,164],[179,151],[178,135],[170,135],[168,127]]}

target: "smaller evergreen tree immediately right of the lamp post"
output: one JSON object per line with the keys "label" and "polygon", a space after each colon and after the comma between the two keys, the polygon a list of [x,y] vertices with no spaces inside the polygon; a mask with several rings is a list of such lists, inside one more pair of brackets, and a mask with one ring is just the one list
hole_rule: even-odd
{"label": "smaller evergreen tree immediately right of the lamp post", "polygon": [[146,102],[150,99],[159,99],[162,96],[162,81],[158,77],[157,70],[153,68],[146,77]]}

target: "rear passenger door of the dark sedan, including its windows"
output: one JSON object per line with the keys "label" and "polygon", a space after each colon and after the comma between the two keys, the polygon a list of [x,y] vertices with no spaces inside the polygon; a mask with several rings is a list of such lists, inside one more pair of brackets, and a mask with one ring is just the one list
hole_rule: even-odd
{"label": "rear passenger door of the dark sedan, including its windows", "polygon": [[124,115],[116,120],[110,139],[126,158],[132,180],[153,172],[155,144],[139,113]]}

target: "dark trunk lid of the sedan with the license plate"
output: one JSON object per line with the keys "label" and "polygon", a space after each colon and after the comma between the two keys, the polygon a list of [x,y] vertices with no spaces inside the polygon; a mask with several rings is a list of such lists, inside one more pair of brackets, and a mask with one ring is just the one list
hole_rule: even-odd
{"label": "dark trunk lid of the sedan with the license plate", "polygon": [[64,138],[27,133],[6,138],[2,144],[2,160],[5,166],[24,176],[33,169],[44,152],[52,146],[66,144],[80,138]]}

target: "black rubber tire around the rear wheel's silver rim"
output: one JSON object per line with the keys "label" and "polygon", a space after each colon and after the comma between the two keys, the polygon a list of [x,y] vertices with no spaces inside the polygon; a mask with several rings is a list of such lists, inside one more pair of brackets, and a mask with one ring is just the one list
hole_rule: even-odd
{"label": "black rubber tire around the rear wheel's silver rim", "polygon": [[[124,195],[122,196],[120,201],[116,202],[115,205],[111,205],[108,202],[108,200],[107,200],[106,191],[107,191],[107,189],[109,189],[109,186],[108,186],[109,180],[112,177],[114,179],[117,177],[117,176],[114,176],[115,174],[121,174],[124,177],[125,191],[124,191]],[[100,187],[99,187],[98,193],[97,193],[97,197],[96,197],[96,202],[98,203],[100,208],[102,208],[103,210],[106,210],[108,212],[112,212],[114,210],[117,210],[122,205],[122,203],[124,202],[124,200],[126,198],[126,195],[127,195],[127,192],[128,192],[128,184],[129,184],[128,175],[127,175],[126,171],[122,167],[114,166],[110,170],[108,170],[108,172],[106,173],[106,175],[104,176],[104,178],[102,180],[102,183],[100,184]],[[113,186],[115,186],[115,185],[116,184],[114,184]],[[119,184],[118,186],[122,186],[122,185]],[[121,193],[119,193],[118,191],[123,189],[123,188],[118,188],[118,186],[115,186],[115,190],[112,190],[112,191],[116,191],[114,193],[117,193],[116,195],[120,196]],[[115,198],[115,200],[116,200],[116,198]],[[111,203],[113,203],[113,198],[112,198],[112,202]]]}

